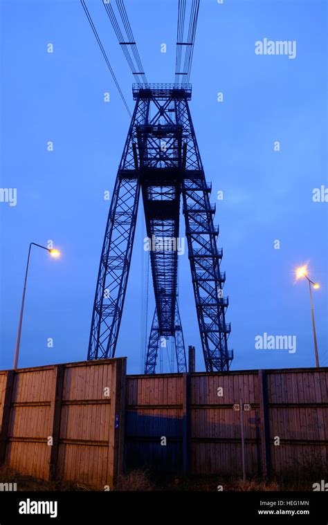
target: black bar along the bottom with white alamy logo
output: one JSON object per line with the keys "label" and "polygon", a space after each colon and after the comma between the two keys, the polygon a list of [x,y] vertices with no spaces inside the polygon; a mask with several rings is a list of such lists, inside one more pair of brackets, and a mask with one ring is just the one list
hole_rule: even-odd
{"label": "black bar along the bottom with white alamy logo", "polygon": [[[43,502],[42,506],[38,506],[38,502]],[[325,492],[228,492],[219,489],[207,492],[0,492],[0,523],[98,524],[102,516],[111,517],[117,513],[132,523],[137,517],[145,517],[149,504],[158,505],[161,523],[172,522],[172,509],[176,517],[180,509],[183,522],[199,512],[207,522],[209,509],[215,508],[217,521],[223,524],[327,525],[328,515]],[[48,512],[31,513],[32,508],[42,507]],[[30,512],[20,513],[19,510]],[[145,522],[149,523],[150,517]]]}

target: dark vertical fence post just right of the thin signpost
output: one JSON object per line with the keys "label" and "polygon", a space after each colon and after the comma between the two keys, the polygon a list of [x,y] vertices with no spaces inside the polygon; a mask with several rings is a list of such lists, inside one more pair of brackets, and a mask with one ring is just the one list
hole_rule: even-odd
{"label": "dark vertical fence post just right of the thin signpost", "polygon": [[271,451],[270,451],[270,429],[268,418],[268,386],[266,372],[259,370],[259,418],[261,430],[261,459],[262,476],[264,478],[271,474]]}

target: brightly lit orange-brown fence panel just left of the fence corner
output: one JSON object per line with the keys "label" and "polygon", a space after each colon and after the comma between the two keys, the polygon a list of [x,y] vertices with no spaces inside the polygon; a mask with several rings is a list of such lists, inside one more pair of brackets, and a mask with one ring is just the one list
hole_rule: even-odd
{"label": "brightly lit orange-brown fence panel just left of the fence corner", "polygon": [[113,484],[115,396],[115,364],[66,365],[58,454],[63,479],[98,487]]}

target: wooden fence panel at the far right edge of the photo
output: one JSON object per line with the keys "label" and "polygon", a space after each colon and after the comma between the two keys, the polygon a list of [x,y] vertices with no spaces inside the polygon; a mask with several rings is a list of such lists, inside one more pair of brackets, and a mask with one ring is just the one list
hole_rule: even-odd
{"label": "wooden fence panel at the far right edge of the photo", "polygon": [[303,472],[328,461],[327,369],[271,370],[268,412],[273,472]]}

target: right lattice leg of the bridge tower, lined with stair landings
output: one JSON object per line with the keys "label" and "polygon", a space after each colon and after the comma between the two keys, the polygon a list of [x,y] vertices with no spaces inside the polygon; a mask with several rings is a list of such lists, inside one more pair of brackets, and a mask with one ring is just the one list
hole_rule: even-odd
{"label": "right lattice leg of the bridge tower, lined with stair landings", "polygon": [[206,371],[224,371],[233,351],[228,351],[230,323],[226,323],[228,297],[223,296],[226,274],[220,272],[222,250],[217,248],[219,226],[213,224],[215,205],[210,204],[187,100],[176,101],[176,118],[184,132],[183,214],[203,356]]}

